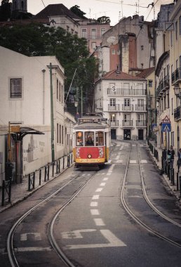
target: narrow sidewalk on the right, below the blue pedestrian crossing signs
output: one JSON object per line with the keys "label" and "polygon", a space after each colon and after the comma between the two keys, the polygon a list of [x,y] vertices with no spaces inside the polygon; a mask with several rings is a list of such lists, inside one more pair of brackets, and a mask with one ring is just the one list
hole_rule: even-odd
{"label": "narrow sidewalk on the right, below the blue pedestrian crossing signs", "polygon": [[[163,150],[161,148],[157,148],[157,145],[156,145],[156,143],[154,143],[154,141],[149,141],[149,143],[151,143],[153,145],[154,149],[156,149],[158,152],[159,161],[156,159],[156,157],[154,157],[154,154],[149,149],[149,152],[150,152],[150,155],[152,156],[152,159],[154,160],[159,171],[161,172],[162,171],[161,157],[162,157],[162,151]],[[147,147],[149,148],[149,145],[147,145]],[[178,203],[181,205],[179,185],[178,185],[179,190],[177,190],[177,155],[175,155],[173,168],[174,168],[174,181],[175,181],[174,185],[173,185],[173,183],[171,183],[171,181],[169,180],[168,176],[165,173],[163,173],[162,176],[163,176],[164,180],[166,181],[168,187],[170,188],[170,193],[172,195],[175,195],[176,199],[178,200]],[[180,171],[181,171],[181,168],[180,168]],[[179,173],[178,176],[181,176],[181,173]]]}

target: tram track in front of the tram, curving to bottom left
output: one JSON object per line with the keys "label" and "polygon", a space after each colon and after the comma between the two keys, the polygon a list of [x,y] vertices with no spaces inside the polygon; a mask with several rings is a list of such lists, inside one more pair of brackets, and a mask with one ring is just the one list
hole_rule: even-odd
{"label": "tram track in front of the tram, curving to bottom left", "polygon": [[[71,180],[69,180],[64,185],[62,185],[61,188],[59,188],[54,193],[52,193],[51,195],[49,195],[48,197],[46,197],[46,199],[44,199],[43,201],[41,201],[38,204],[36,204],[34,207],[32,207],[31,209],[29,209],[27,212],[25,212],[25,214],[22,214],[22,216],[20,216],[20,218],[18,219],[18,221],[16,221],[13,224],[13,226],[11,227],[11,230],[8,232],[8,237],[7,237],[7,242],[6,242],[6,248],[7,248],[7,252],[8,252],[8,259],[9,259],[12,267],[19,267],[20,266],[20,264],[18,263],[18,260],[17,260],[17,258],[15,256],[15,252],[16,252],[17,249],[15,249],[13,247],[13,237],[15,235],[15,231],[17,230],[18,226],[20,226],[20,224],[22,223],[22,221],[25,220],[25,218],[27,218],[27,216],[29,216],[29,214],[31,214],[33,211],[35,211],[36,209],[38,209],[39,207],[41,207],[44,203],[46,203],[49,200],[51,200],[51,198],[53,198],[55,195],[58,195],[58,193],[60,193],[64,188],[66,188],[69,184],[71,184],[79,176],[80,176],[79,174],[76,175],[76,176],[74,176],[74,178],[72,178]],[[65,204],[62,204],[62,206],[60,207],[60,209],[58,210],[58,212],[53,216],[53,218],[51,219],[51,222],[48,225],[48,240],[51,243],[51,247],[56,252],[56,254],[58,254],[58,256],[62,259],[62,261],[67,264],[67,266],[72,266],[73,267],[74,265],[72,265],[72,263],[69,261],[69,259],[66,258],[66,256],[62,253],[61,249],[56,244],[55,238],[53,237],[53,223],[55,223],[55,219],[57,218],[58,214],[60,214],[60,212],[63,209],[65,209],[65,207],[74,199],[74,197],[76,197],[76,195],[79,194],[79,192],[81,192],[81,190],[86,186],[86,184],[94,176],[95,176],[95,174],[93,174],[92,176],[90,176],[90,178],[88,178],[88,180],[85,183],[83,183],[83,185],[80,185],[80,187],[78,188],[78,190],[76,190],[76,192],[71,197],[69,197],[69,199],[67,200],[67,202],[65,202]]]}

